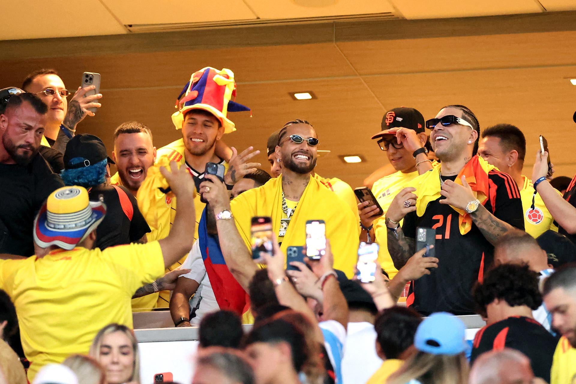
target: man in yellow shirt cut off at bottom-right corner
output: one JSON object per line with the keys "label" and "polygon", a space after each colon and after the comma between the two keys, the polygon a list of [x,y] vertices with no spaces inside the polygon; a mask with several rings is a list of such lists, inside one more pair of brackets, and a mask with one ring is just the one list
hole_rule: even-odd
{"label": "man in yellow shirt cut off at bottom-right corner", "polygon": [[552,326],[562,334],[552,359],[550,384],[572,384],[576,380],[576,265],[556,269],[544,281],[542,295]]}

